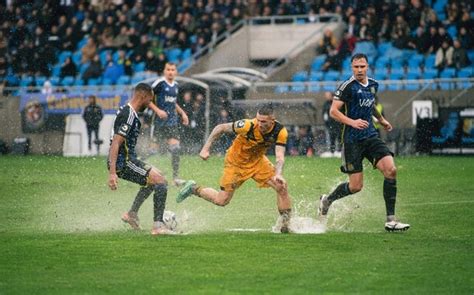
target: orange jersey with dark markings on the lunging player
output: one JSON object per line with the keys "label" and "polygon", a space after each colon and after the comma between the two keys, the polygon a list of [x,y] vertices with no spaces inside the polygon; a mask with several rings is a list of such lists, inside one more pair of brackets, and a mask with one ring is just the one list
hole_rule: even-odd
{"label": "orange jersey with dark markings on the lunging player", "polygon": [[234,122],[232,129],[237,134],[227,150],[226,161],[240,168],[251,168],[262,159],[273,145],[286,145],[288,131],[278,121],[266,134],[257,128],[257,119],[245,119]]}

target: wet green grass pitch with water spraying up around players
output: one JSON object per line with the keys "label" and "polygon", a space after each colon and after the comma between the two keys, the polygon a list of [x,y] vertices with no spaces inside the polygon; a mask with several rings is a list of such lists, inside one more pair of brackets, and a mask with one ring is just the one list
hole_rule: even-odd
{"label": "wet green grass pitch with water spraying up around players", "polygon": [[[170,160],[149,162],[170,176]],[[181,176],[218,187],[223,159],[182,158]],[[273,234],[272,190],[247,182],[225,208],[198,198],[167,208],[187,233],[152,237],[120,221],[137,186],[107,187],[104,158],[0,157],[0,294],[473,294],[474,158],[397,158],[397,215],[386,233],[382,176],[333,204],[324,234]],[[298,216],[345,180],[338,159],[287,158]],[[236,232],[230,229],[255,229]]]}

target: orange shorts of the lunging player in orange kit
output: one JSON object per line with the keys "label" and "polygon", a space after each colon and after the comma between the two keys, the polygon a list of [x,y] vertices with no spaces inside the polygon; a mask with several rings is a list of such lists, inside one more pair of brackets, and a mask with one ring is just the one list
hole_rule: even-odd
{"label": "orange shorts of the lunging player in orange kit", "polygon": [[257,182],[259,187],[268,187],[267,182],[273,176],[275,176],[275,168],[265,156],[251,168],[238,167],[233,163],[229,163],[226,159],[220,186],[221,190],[233,192],[247,179],[252,178]]}

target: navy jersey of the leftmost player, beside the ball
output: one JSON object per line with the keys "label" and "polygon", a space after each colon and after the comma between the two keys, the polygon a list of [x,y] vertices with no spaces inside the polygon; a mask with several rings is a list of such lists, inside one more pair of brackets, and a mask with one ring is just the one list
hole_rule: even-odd
{"label": "navy jersey of the leftmost player, beside the ball", "polygon": [[122,168],[126,161],[137,158],[135,146],[137,145],[141,125],[137,112],[135,112],[130,104],[121,106],[117,111],[110,143],[112,143],[112,138],[115,134],[125,138],[125,141],[119,148],[117,169]]}

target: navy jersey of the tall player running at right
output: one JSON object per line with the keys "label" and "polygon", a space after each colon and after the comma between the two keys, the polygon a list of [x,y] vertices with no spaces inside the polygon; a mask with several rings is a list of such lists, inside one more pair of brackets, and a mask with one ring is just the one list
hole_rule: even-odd
{"label": "navy jersey of the tall player running at right", "polygon": [[368,128],[361,130],[344,125],[343,142],[358,142],[377,136],[377,130],[372,122],[372,113],[378,88],[379,84],[372,78],[368,78],[367,85],[362,85],[352,76],[344,81],[334,93],[335,100],[344,102],[343,113],[347,117],[353,120],[362,119],[369,123]]}

